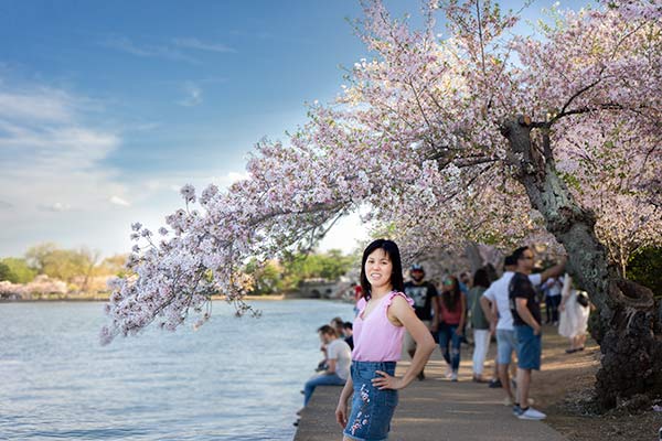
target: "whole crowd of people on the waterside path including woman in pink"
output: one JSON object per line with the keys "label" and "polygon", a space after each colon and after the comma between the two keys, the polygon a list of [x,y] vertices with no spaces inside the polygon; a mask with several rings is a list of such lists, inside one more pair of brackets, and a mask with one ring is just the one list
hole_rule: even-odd
{"label": "whole crowd of people on the waterside path including woman in pink", "polygon": [[[500,278],[484,267],[472,277],[446,275],[440,283],[426,280],[424,267],[413,265],[405,282],[397,246],[375,240],[363,254],[354,323],[335,318],[318,330],[324,359],[306,383],[305,405],[316,386],[344,385],[337,409],[344,440],[384,439],[397,389],[426,378],[424,368],[437,345],[447,365],[446,378],[458,381],[466,345],[473,346],[473,381],[501,388],[515,417],[544,419],[530,398],[532,372],[541,368],[542,326],[558,326],[568,338],[568,354],[583,351],[590,302],[564,275],[565,258],[535,273],[534,258],[532,248],[521,247],[505,257]],[[484,365],[493,337],[496,355],[489,378]],[[395,377],[402,353],[412,357],[412,364],[403,377]],[[389,405],[380,405],[384,402]]]}

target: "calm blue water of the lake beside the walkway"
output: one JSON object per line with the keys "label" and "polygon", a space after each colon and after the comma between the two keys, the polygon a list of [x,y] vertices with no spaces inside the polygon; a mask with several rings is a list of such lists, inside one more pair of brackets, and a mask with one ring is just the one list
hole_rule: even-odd
{"label": "calm blue water of the lake beside the walkway", "polygon": [[98,344],[102,303],[0,304],[0,439],[291,440],[316,330],[352,305],[214,303],[194,332]]}

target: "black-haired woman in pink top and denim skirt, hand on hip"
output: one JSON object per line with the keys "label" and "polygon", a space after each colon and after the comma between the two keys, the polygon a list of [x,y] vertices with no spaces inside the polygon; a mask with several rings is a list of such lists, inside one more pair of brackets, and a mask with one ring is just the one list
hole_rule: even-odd
{"label": "black-haired woman in pink top and denim skirt, hand on hip", "polygon": [[[407,387],[424,368],[435,341],[414,313],[412,299],[402,292],[401,254],[394,241],[377,239],[365,248],[361,284],[363,298],[354,320],[352,370],[340,394],[335,420],[344,428],[343,441],[381,441],[391,430],[397,390]],[[416,341],[416,353],[405,375],[395,377],[405,330]],[[352,412],[348,416],[352,394]]]}

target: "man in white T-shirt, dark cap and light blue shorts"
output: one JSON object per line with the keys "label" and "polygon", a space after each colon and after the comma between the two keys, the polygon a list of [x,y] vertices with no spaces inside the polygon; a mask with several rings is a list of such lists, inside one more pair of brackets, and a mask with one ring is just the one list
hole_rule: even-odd
{"label": "man in white T-shirt, dark cap and light blue shorts", "polygon": [[[504,272],[500,279],[490,284],[490,288],[483,292],[480,304],[490,321],[490,330],[496,332],[496,364],[501,387],[505,392],[505,404],[512,406],[515,397],[510,387],[509,367],[512,354],[516,354],[517,341],[513,327],[513,316],[510,310],[509,286],[515,275],[516,261],[513,256],[506,256],[503,265]],[[542,284],[551,277],[558,276],[565,268],[565,259],[558,265],[546,269],[542,273],[530,275],[528,280],[534,286]]]}

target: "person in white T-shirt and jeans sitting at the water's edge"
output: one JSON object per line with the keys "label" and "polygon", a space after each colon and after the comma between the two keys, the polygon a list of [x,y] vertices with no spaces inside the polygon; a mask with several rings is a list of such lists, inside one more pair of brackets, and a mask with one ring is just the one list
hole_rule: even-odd
{"label": "person in white T-shirt and jeans sitting at the water's edge", "polygon": [[318,330],[320,340],[327,346],[327,369],[306,381],[303,406],[308,405],[317,386],[343,386],[350,376],[352,351],[344,340],[338,337],[335,330],[324,325]]}

